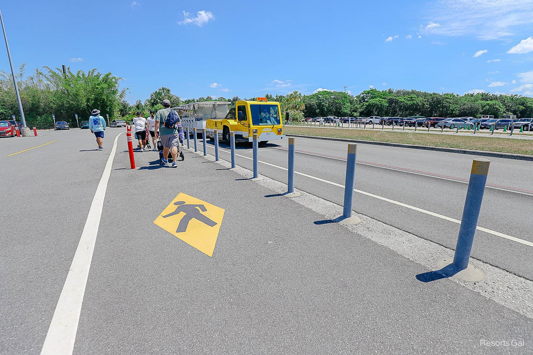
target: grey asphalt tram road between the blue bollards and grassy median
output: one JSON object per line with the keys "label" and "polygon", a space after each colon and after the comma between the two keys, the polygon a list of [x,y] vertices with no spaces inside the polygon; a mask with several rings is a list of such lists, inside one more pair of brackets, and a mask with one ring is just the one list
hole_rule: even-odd
{"label": "grey asphalt tram road between the blue bollards and grassy median", "polygon": [[[214,154],[212,142],[207,142]],[[287,181],[288,141],[259,148],[259,172]],[[348,143],[296,138],[295,187],[328,201],[343,204]],[[230,159],[221,144],[221,158]],[[237,144],[237,164],[252,169],[251,144]],[[247,158],[244,158],[247,157]],[[409,206],[461,220],[472,160],[469,154],[446,153],[359,144],[356,189]],[[533,162],[490,158],[491,166],[478,225],[494,232],[533,242]],[[316,179],[318,178],[318,179]],[[406,230],[449,249],[455,249],[459,224],[376,197],[354,194],[353,209],[365,216]],[[477,231],[472,256],[491,265],[533,279],[532,246]]]}

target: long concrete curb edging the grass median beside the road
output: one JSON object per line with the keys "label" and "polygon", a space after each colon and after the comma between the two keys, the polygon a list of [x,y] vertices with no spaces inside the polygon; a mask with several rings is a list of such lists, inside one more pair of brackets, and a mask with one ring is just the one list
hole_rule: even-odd
{"label": "long concrete curb edging the grass median beside the road", "polygon": [[398,148],[413,148],[422,149],[426,151],[437,151],[447,153],[459,153],[459,154],[471,154],[490,156],[491,158],[505,158],[516,160],[533,161],[533,155],[525,154],[513,154],[513,153],[500,153],[500,152],[487,152],[487,151],[474,151],[470,149],[458,149],[458,148],[445,148],[445,147],[432,147],[428,145],[416,145],[416,144],[403,144],[403,143],[389,143],[389,142],[376,142],[376,141],[363,141],[362,139],[348,139],[348,138],[333,138],[333,137],[320,137],[320,136],[306,136],[301,134],[285,134],[287,137],[299,137],[299,138],[311,138],[321,139],[323,141],[337,141],[337,142],[349,142],[349,143],[362,143],[362,144],[374,144],[374,145],[386,145],[390,147]]}

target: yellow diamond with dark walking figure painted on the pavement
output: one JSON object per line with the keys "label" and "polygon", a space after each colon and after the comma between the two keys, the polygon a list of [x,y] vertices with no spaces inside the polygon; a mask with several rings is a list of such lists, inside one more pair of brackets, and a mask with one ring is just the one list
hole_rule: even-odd
{"label": "yellow diamond with dark walking figure painted on the pavement", "polygon": [[212,257],[223,217],[224,209],[180,193],[154,223]]}

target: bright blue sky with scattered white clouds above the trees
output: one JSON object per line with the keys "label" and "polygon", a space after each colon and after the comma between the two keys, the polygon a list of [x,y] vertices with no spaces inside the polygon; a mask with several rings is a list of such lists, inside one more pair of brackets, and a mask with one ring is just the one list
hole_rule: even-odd
{"label": "bright blue sky with scattered white clouds above the trees", "polygon": [[[369,87],[533,96],[533,0],[4,2],[15,65],[98,68],[127,100]],[[0,69],[9,71],[5,49]]]}

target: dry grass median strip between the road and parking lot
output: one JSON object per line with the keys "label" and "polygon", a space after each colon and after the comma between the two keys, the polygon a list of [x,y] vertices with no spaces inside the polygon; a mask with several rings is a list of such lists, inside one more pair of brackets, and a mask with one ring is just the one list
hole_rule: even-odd
{"label": "dry grass median strip between the road and parking lot", "polygon": [[285,126],[283,130],[285,134],[298,134],[304,136],[361,139],[362,141],[390,142],[533,155],[533,140],[530,139],[468,137],[421,134],[414,132],[387,132],[381,130],[288,126]]}

